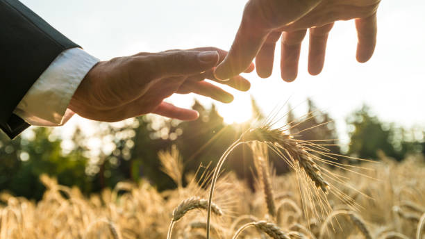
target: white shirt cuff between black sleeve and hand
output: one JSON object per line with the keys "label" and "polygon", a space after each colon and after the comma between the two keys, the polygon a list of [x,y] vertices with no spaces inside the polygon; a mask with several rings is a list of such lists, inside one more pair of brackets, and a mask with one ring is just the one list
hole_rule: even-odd
{"label": "white shirt cuff between black sleeve and hand", "polygon": [[36,126],[60,126],[74,115],[67,107],[85,75],[99,62],[80,48],[67,49],[47,67],[13,113]]}

